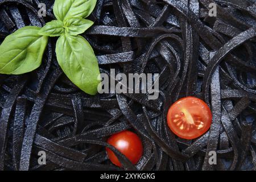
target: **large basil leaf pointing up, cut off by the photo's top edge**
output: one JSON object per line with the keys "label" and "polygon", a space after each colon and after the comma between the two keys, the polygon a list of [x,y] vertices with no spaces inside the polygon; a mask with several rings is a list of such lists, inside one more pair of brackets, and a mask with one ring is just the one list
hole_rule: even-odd
{"label": "large basil leaf pointing up, cut off by the photo's top edge", "polygon": [[53,13],[61,21],[71,17],[86,18],[92,13],[96,2],[97,0],[55,0]]}

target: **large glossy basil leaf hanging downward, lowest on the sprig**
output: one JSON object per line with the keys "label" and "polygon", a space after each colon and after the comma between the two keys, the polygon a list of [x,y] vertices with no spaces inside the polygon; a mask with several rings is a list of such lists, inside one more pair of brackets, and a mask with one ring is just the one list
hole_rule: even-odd
{"label": "large glossy basil leaf hanging downward, lowest on the sprig", "polygon": [[98,61],[90,44],[82,36],[63,34],[56,44],[57,61],[65,75],[81,90],[97,93],[100,80]]}

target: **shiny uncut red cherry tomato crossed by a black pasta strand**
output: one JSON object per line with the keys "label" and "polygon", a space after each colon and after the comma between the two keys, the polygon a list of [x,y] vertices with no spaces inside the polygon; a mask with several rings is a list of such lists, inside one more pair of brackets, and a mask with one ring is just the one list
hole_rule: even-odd
{"label": "shiny uncut red cherry tomato crossed by a black pasta strand", "polygon": [[[141,159],[143,146],[141,139],[137,134],[127,130],[122,131],[112,135],[107,142],[117,148],[117,150],[119,150],[123,155],[126,156],[127,159],[131,161],[131,163],[137,164],[139,159]],[[106,147],[106,152],[113,164],[118,167],[122,167],[117,156],[115,156],[112,150]]]}

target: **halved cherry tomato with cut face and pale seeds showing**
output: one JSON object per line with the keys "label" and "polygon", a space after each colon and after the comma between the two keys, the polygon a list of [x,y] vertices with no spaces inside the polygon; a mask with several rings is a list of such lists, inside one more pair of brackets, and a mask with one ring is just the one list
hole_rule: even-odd
{"label": "halved cherry tomato with cut face and pale seeds showing", "polygon": [[178,137],[194,139],[209,129],[212,123],[212,113],[207,104],[199,98],[185,97],[170,107],[167,123]]}

